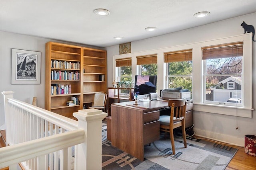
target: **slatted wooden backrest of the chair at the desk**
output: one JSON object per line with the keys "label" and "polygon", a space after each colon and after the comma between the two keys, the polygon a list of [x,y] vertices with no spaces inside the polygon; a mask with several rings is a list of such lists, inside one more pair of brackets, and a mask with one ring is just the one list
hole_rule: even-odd
{"label": "slatted wooden backrest of the chair at the desk", "polygon": [[173,117],[173,121],[180,121],[184,119],[186,115],[186,106],[187,106],[186,99],[178,99],[178,100],[169,99],[168,106],[172,106],[170,116]]}

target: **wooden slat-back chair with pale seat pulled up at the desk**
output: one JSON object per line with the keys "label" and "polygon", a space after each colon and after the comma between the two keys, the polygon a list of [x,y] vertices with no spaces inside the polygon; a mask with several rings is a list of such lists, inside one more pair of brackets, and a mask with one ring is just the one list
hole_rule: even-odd
{"label": "wooden slat-back chair with pale seat pulled up at the desk", "polygon": [[170,139],[172,143],[172,152],[175,154],[174,134],[173,129],[182,127],[182,136],[184,141],[184,147],[187,147],[186,132],[185,132],[185,115],[186,115],[186,99],[181,100],[168,100],[168,106],[171,106],[171,113],[169,115],[161,115],[160,131],[170,133]]}

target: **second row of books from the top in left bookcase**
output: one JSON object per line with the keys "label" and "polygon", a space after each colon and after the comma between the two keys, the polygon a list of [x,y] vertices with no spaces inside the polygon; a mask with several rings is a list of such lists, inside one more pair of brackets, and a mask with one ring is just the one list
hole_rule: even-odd
{"label": "second row of books from the top in left bookcase", "polygon": [[51,71],[51,80],[80,80],[79,72],[69,71]]}

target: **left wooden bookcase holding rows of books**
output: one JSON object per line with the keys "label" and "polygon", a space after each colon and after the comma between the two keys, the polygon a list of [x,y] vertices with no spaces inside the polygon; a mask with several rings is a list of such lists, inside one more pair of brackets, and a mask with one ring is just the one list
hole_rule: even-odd
{"label": "left wooden bookcase holding rows of books", "polygon": [[[73,112],[82,109],[82,104],[80,104],[83,102],[82,64],[82,47],[54,42],[46,43],[46,110],[73,119]],[[61,86],[62,88],[66,86],[65,92],[64,90],[60,92]],[[78,98],[79,102],[74,106],[67,106],[66,102],[72,97]]]}

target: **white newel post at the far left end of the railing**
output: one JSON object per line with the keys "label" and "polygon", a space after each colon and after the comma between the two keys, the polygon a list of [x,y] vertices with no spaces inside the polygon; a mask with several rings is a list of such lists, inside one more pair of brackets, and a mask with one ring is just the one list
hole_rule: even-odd
{"label": "white newel post at the far left end of the railing", "polygon": [[8,104],[8,98],[13,98],[13,91],[4,91],[2,92],[4,95],[4,117],[5,117],[5,125],[6,125],[6,145],[10,144],[11,142],[11,128],[12,128],[12,121],[11,121],[11,109],[10,105]]}

